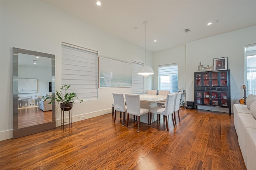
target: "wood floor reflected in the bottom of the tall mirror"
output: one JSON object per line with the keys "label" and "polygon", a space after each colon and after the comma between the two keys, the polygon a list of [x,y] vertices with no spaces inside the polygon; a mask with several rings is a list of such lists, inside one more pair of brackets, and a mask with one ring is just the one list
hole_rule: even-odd
{"label": "wood floor reflected in the bottom of the tall mirror", "polygon": [[18,109],[18,128],[29,127],[52,121],[52,111],[42,111],[38,107]]}

